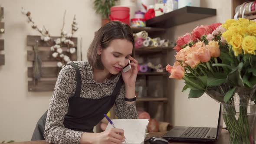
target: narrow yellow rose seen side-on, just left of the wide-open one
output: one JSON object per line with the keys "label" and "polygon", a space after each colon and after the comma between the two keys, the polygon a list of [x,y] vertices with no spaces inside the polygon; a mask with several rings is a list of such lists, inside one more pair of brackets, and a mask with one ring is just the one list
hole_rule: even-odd
{"label": "narrow yellow rose seen side-on, just left of the wide-open one", "polygon": [[242,42],[243,36],[241,36],[240,34],[232,36],[232,39],[230,40],[230,45],[235,52],[235,56],[238,56],[242,53]]}

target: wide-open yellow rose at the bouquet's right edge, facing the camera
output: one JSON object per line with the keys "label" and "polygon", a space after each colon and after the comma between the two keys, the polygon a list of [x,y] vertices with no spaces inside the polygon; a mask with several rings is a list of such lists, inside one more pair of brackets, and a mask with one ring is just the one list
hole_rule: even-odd
{"label": "wide-open yellow rose at the bouquet's right edge, facing the camera", "polygon": [[255,53],[256,37],[255,36],[246,36],[242,42],[242,49],[243,49],[244,53],[256,55],[256,53]]}

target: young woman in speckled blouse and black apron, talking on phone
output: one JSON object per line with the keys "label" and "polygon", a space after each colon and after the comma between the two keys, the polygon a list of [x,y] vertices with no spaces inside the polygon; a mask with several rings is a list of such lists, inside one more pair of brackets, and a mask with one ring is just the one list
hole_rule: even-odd
{"label": "young woman in speckled blouse and black apron, talking on phone", "polygon": [[[138,62],[131,28],[119,21],[102,26],[87,53],[88,62],[72,62],[60,72],[46,118],[44,138],[55,144],[120,144],[125,132],[93,127],[115,104],[119,119],[137,118],[135,81]],[[131,69],[122,69],[131,61]]]}

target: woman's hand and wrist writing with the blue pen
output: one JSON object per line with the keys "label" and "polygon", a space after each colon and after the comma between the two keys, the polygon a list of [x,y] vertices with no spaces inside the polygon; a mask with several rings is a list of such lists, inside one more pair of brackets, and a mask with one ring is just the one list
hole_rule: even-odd
{"label": "woman's hand and wrist writing with the blue pen", "polygon": [[[101,133],[84,133],[81,137],[81,144],[121,144],[125,141],[124,130],[111,128]],[[119,135],[120,134],[120,135]]]}

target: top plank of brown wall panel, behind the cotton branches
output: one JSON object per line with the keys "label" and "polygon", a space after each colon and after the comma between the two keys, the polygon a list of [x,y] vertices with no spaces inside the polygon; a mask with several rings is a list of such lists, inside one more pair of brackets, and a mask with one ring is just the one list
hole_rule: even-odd
{"label": "top plank of brown wall panel, behind the cotton branches", "polygon": [[[58,36],[51,36],[51,37],[52,37],[53,40],[60,38]],[[77,47],[77,38],[75,37],[75,38],[72,38],[71,40],[75,44],[74,47]],[[36,45],[36,41],[38,41],[38,46],[49,46],[48,43],[46,43],[43,40],[41,40],[41,36],[31,36],[31,35],[27,36],[27,41],[26,41],[27,43],[26,43],[26,45],[27,46],[35,46]]]}

